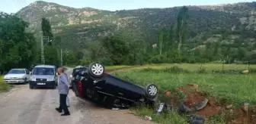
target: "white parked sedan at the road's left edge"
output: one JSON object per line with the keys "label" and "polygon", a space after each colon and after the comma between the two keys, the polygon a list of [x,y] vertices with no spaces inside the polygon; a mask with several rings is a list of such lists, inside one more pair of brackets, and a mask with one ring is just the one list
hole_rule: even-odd
{"label": "white parked sedan at the road's left edge", "polygon": [[26,83],[30,78],[30,72],[27,69],[11,69],[4,76],[7,83]]}

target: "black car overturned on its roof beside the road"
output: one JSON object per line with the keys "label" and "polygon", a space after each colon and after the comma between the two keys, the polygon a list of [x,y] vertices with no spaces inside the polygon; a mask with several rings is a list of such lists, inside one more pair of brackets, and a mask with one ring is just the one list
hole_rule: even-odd
{"label": "black car overturned on its roof beside the road", "polygon": [[75,67],[70,77],[75,96],[107,107],[129,107],[139,103],[153,105],[157,99],[156,85],[149,84],[144,88],[117,78],[105,73],[104,66],[99,63]]}

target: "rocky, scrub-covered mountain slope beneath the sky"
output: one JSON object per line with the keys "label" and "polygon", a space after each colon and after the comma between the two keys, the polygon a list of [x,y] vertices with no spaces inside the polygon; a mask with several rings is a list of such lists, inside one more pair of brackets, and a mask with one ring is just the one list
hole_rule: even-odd
{"label": "rocky, scrub-covered mountain slope beneath the sky", "polygon": [[[29,29],[37,36],[40,36],[41,18],[46,17],[50,20],[55,36],[61,36],[67,47],[83,48],[86,42],[97,41],[102,36],[110,35],[123,36],[127,41],[143,39],[151,43],[158,42],[162,29],[175,26],[179,8],[181,7],[104,11],[37,1],[22,8],[17,15],[30,22]],[[190,16],[187,41],[200,42],[190,45],[191,47],[219,40],[228,43],[235,39],[252,44],[256,42],[256,2],[187,8]],[[221,32],[212,33],[216,29],[232,32],[228,36],[230,39],[219,39],[223,35]],[[245,39],[248,33],[251,36]]]}

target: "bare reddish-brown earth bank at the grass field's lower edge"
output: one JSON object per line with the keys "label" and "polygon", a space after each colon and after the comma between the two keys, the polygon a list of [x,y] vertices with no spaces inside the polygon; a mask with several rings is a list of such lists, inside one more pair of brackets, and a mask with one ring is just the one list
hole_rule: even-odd
{"label": "bare reddish-brown earth bank at the grass field's lower edge", "polygon": [[209,101],[202,110],[196,112],[197,115],[210,117],[213,115],[225,113],[226,122],[228,124],[256,124],[256,105],[248,107],[242,105],[240,108],[228,107],[232,104],[218,104],[216,98],[209,97],[206,94],[197,90],[198,85],[184,85],[179,87],[181,91],[184,91],[186,98],[184,104],[187,107],[194,107],[195,104],[201,103],[205,98]]}

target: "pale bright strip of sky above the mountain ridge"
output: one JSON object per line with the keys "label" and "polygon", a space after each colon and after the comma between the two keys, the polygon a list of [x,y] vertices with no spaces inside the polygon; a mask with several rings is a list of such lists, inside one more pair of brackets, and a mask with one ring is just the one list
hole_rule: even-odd
{"label": "pale bright strip of sky above the mountain ridge", "polygon": [[[16,13],[37,0],[1,0],[0,11]],[[108,11],[136,8],[171,8],[182,5],[219,5],[252,0],[44,0],[73,8],[98,8]]]}

